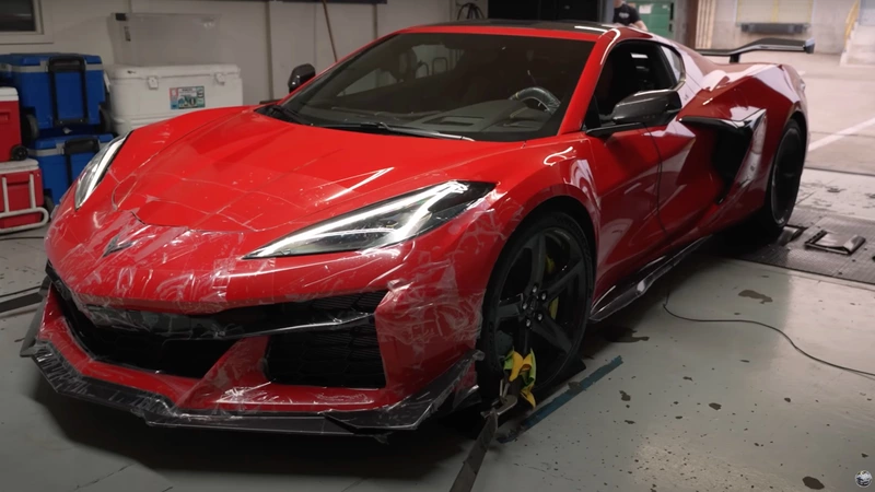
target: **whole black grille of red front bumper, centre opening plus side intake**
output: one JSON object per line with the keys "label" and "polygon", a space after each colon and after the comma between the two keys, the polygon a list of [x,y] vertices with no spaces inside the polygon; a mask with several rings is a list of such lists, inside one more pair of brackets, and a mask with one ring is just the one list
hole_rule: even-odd
{"label": "whole black grille of red front bumper, centre opening plus side intake", "polygon": [[[47,266],[68,326],[95,360],[184,377],[203,377],[247,333],[371,314],[386,292],[370,292],[228,309],[214,315],[182,315],[85,306]],[[373,316],[346,327],[289,331],[270,337],[265,370],[281,384],[335,387],[383,387],[383,360]],[[334,329],[332,329],[334,328]]]}

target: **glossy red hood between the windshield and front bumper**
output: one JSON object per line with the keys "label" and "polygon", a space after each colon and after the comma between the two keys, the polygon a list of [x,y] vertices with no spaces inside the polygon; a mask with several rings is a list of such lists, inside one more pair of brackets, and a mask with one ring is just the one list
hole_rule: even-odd
{"label": "glossy red hood between the windshield and front bumper", "polygon": [[[404,186],[465,179],[476,171],[463,164],[520,145],[329,130],[246,112],[163,148],[116,185],[113,202],[152,225],[262,231]],[[450,177],[450,167],[460,172]]]}

